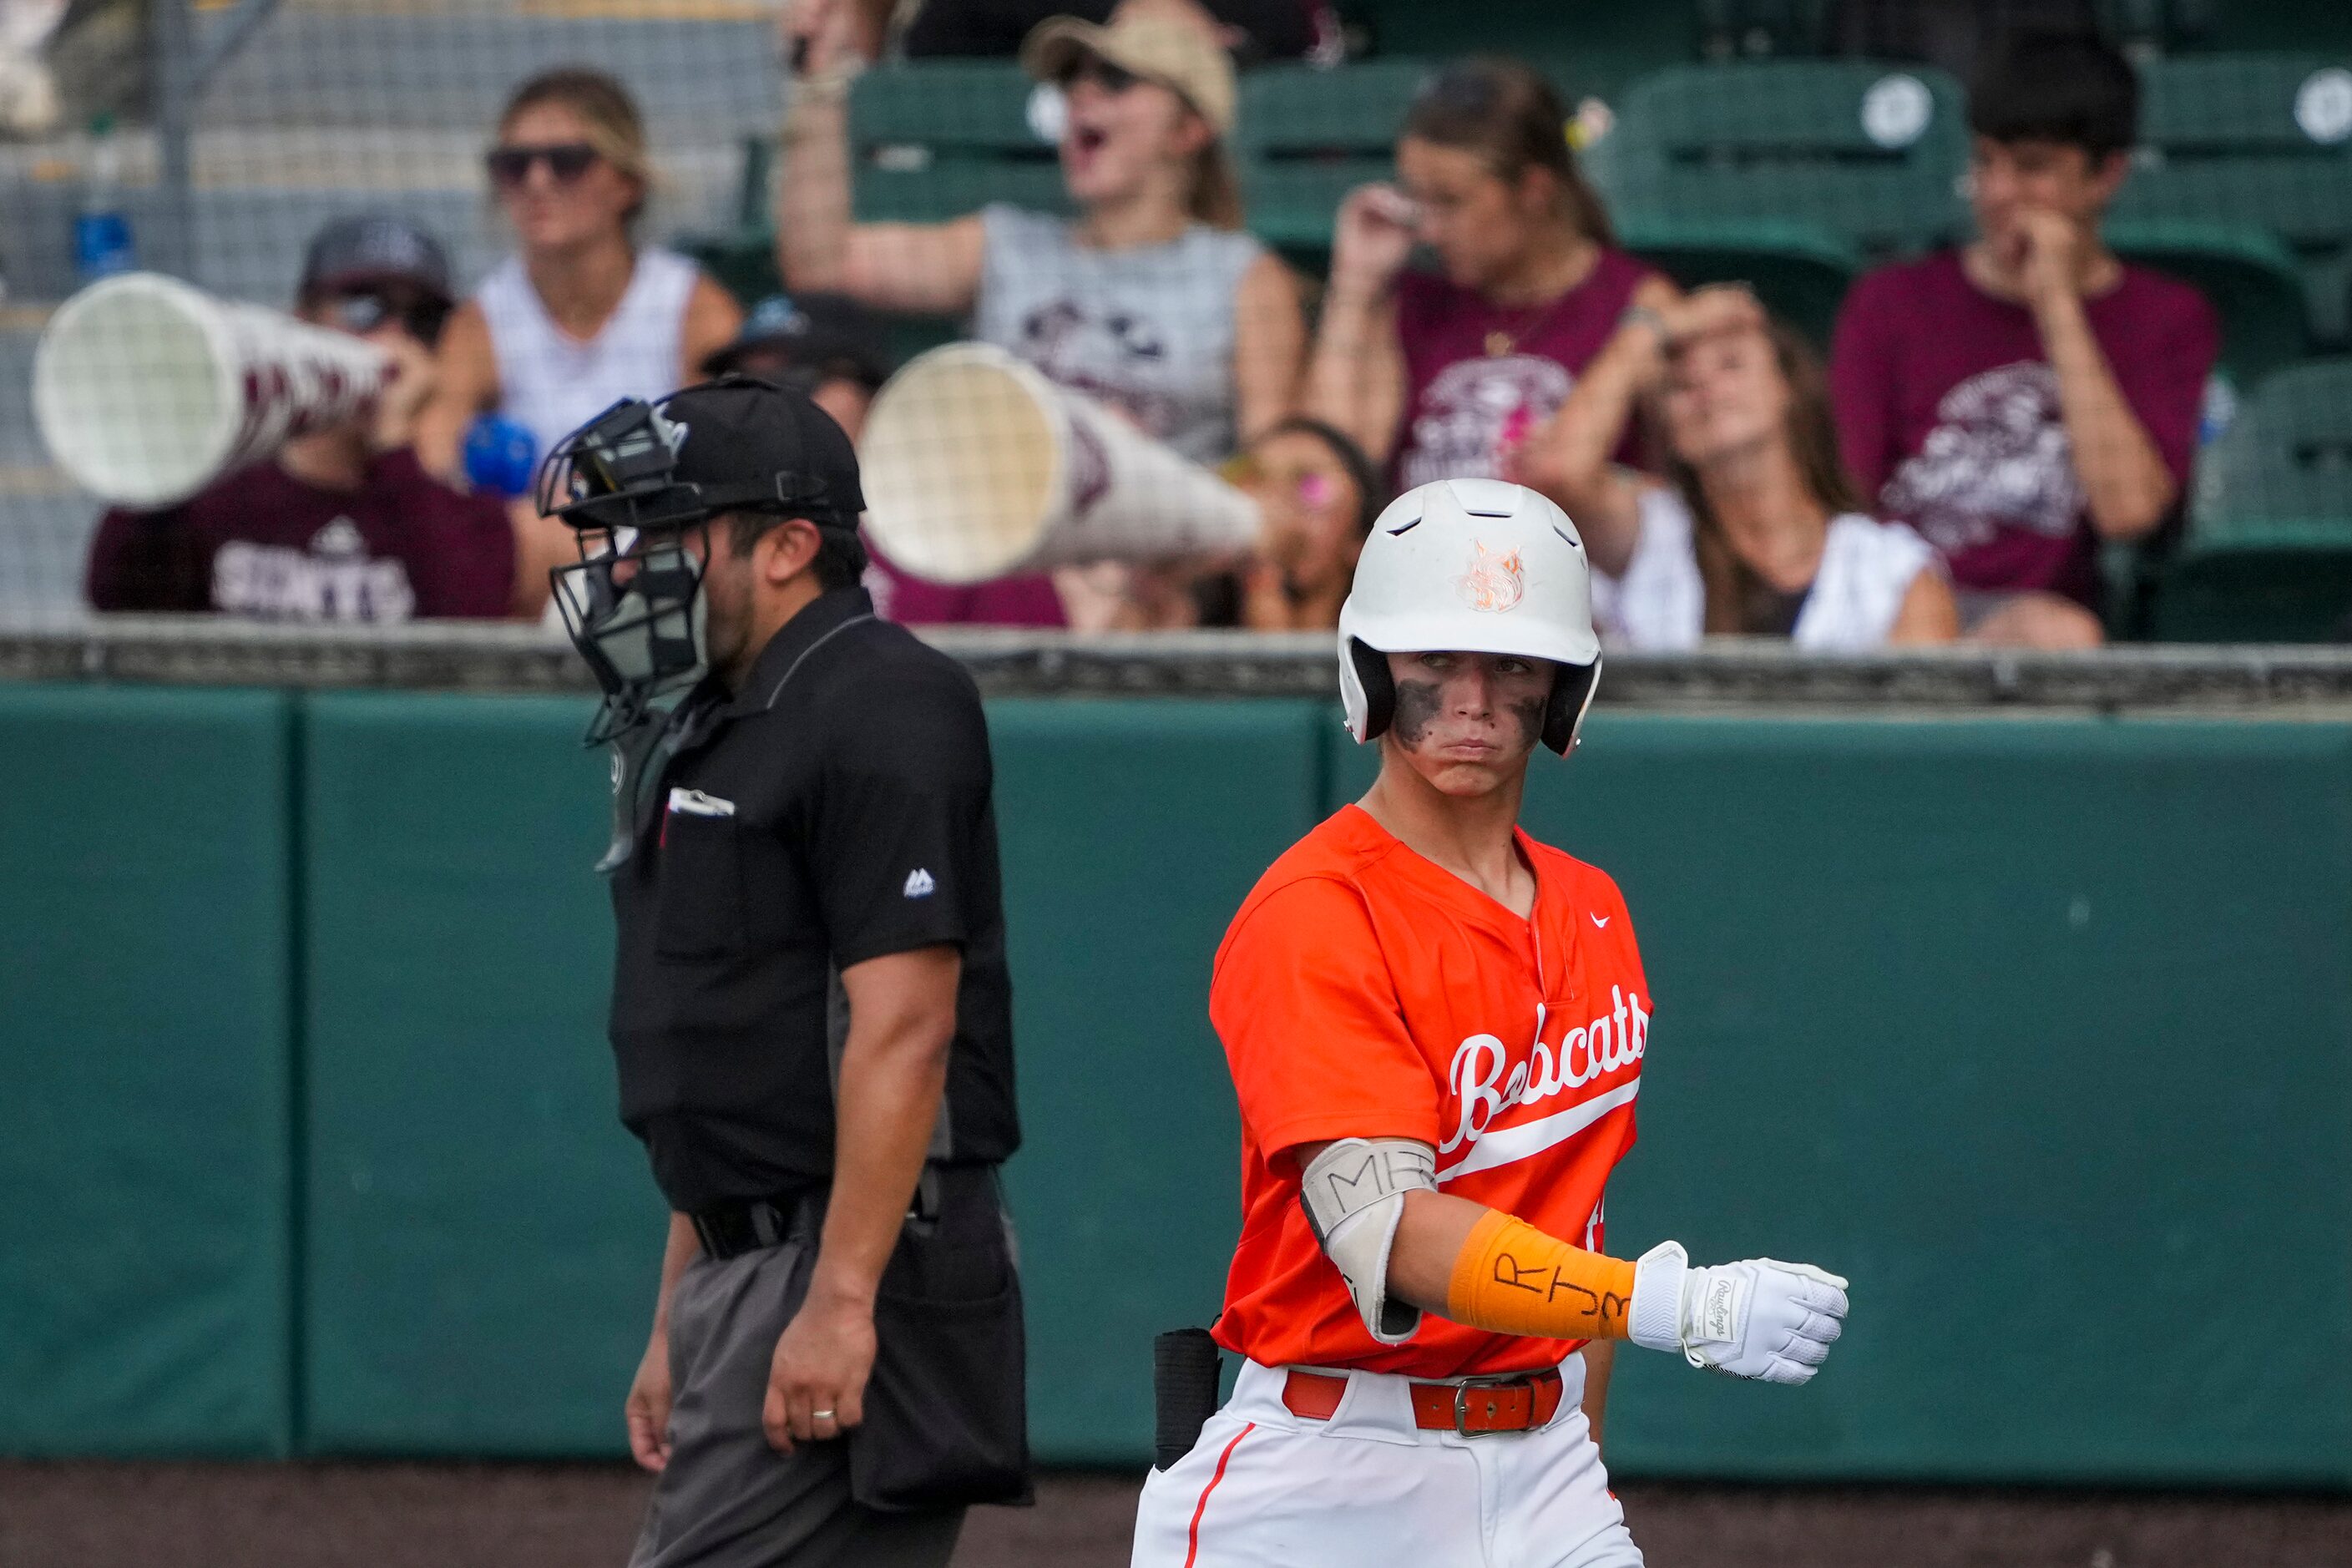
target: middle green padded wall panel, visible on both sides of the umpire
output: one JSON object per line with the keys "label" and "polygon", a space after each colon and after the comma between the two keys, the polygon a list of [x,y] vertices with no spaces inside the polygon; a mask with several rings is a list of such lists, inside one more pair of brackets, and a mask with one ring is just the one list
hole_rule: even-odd
{"label": "middle green padded wall panel, visible on both sides of the umpire", "polygon": [[[614,1119],[586,715],[308,703],[310,1450],[619,1448],[663,1211]],[[1035,1150],[1009,1190],[1033,1425],[1058,1458],[1148,1443],[1150,1335],[1216,1312],[1237,1161],[1200,976],[1315,823],[1324,719],[1319,703],[990,710]]]}

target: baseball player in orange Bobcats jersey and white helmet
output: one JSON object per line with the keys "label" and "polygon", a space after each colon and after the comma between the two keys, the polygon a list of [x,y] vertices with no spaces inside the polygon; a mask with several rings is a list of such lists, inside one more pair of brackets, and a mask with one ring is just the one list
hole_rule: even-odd
{"label": "baseball player in orange Bobcats jersey and white helmet", "polygon": [[1423,484],[1374,527],[1338,635],[1381,778],[1216,954],[1244,1211],[1216,1340],[1247,1361],[1145,1483],[1134,1561],[1637,1566],[1595,1443],[1606,1352],[1804,1382],[1846,1281],[1599,1251],[1653,1006],[1616,884],[1517,825],[1536,745],[1576,745],[1599,677],[1569,517]]}

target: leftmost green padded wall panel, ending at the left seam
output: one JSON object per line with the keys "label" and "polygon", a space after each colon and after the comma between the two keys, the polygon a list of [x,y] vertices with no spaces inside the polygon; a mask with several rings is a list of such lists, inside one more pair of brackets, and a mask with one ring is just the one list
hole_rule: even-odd
{"label": "leftmost green padded wall panel, ending at the left seam", "polygon": [[292,703],[0,733],[0,1450],[285,1453]]}

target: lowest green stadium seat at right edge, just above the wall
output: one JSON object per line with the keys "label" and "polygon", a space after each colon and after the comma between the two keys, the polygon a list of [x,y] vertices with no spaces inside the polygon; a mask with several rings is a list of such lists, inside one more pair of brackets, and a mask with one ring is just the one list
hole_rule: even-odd
{"label": "lowest green stadium seat at right edge, just above the wall", "polygon": [[2197,468],[2166,642],[2326,642],[2352,616],[2352,360],[2270,376]]}

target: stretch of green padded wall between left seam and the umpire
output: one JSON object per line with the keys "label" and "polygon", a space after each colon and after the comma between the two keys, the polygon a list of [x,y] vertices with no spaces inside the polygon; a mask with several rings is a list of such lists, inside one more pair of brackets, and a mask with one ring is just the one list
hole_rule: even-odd
{"label": "stretch of green padded wall between left seam and the umpire", "polygon": [[306,705],[306,1446],[612,1453],[668,1215],[616,1119],[588,703]]}

